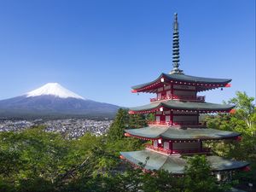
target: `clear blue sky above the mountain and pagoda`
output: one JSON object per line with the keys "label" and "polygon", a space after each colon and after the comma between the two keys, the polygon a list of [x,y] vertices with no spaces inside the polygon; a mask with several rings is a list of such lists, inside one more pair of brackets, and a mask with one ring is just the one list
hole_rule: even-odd
{"label": "clear blue sky above the mountain and pagoda", "polygon": [[57,82],[80,96],[131,107],[131,94],[172,70],[177,12],[185,74],[233,79],[202,92],[255,96],[254,0],[0,0],[0,99]]}

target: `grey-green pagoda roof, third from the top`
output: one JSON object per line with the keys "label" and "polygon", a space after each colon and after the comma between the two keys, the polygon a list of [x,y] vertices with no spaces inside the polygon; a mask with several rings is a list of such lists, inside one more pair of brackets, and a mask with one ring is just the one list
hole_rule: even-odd
{"label": "grey-green pagoda roof, third from the top", "polygon": [[144,138],[166,138],[173,141],[180,140],[218,140],[218,139],[230,139],[236,138],[241,133],[232,131],[221,131],[209,128],[186,128],[178,129],[172,126],[148,126],[140,129],[125,130],[133,137],[144,137]]}

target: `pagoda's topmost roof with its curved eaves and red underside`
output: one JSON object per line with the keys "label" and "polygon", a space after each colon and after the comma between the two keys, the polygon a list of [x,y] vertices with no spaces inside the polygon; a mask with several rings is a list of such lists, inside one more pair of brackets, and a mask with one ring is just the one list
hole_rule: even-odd
{"label": "pagoda's topmost roof with its curved eaves and red underside", "polygon": [[161,73],[160,77],[154,81],[138,84],[131,87],[131,92],[155,92],[155,89],[161,84],[161,79],[164,79],[166,84],[186,84],[195,85],[198,87],[198,91],[212,90],[220,87],[230,87],[230,81],[232,79],[210,79],[201,78],[196,76],[184,75],[184,74],[167,74]]}

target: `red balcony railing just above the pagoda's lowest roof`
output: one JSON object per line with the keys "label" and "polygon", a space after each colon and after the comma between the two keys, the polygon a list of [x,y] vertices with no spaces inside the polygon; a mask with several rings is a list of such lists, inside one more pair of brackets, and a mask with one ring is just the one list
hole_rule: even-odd
{"label": "red balcony railing just above the pagoda's lowest roof", "polygon": [[166,148],[154,147],[152,144],[146,144],[146,148],[158,151],[163,154],[208,154],[211,152],[210,148],[186,148],[186,149],[179,149],[179,150],[171,150]]}

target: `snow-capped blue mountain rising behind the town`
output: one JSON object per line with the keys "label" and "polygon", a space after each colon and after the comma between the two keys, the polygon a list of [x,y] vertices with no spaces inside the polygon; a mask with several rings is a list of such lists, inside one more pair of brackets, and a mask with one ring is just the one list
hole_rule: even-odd
{"label": "snow-capped blue mountain rising behind the town", "polygon": [[118,109],[116,105],[85,99],[57,83],[0,101],[2,117],[113,117]]}

